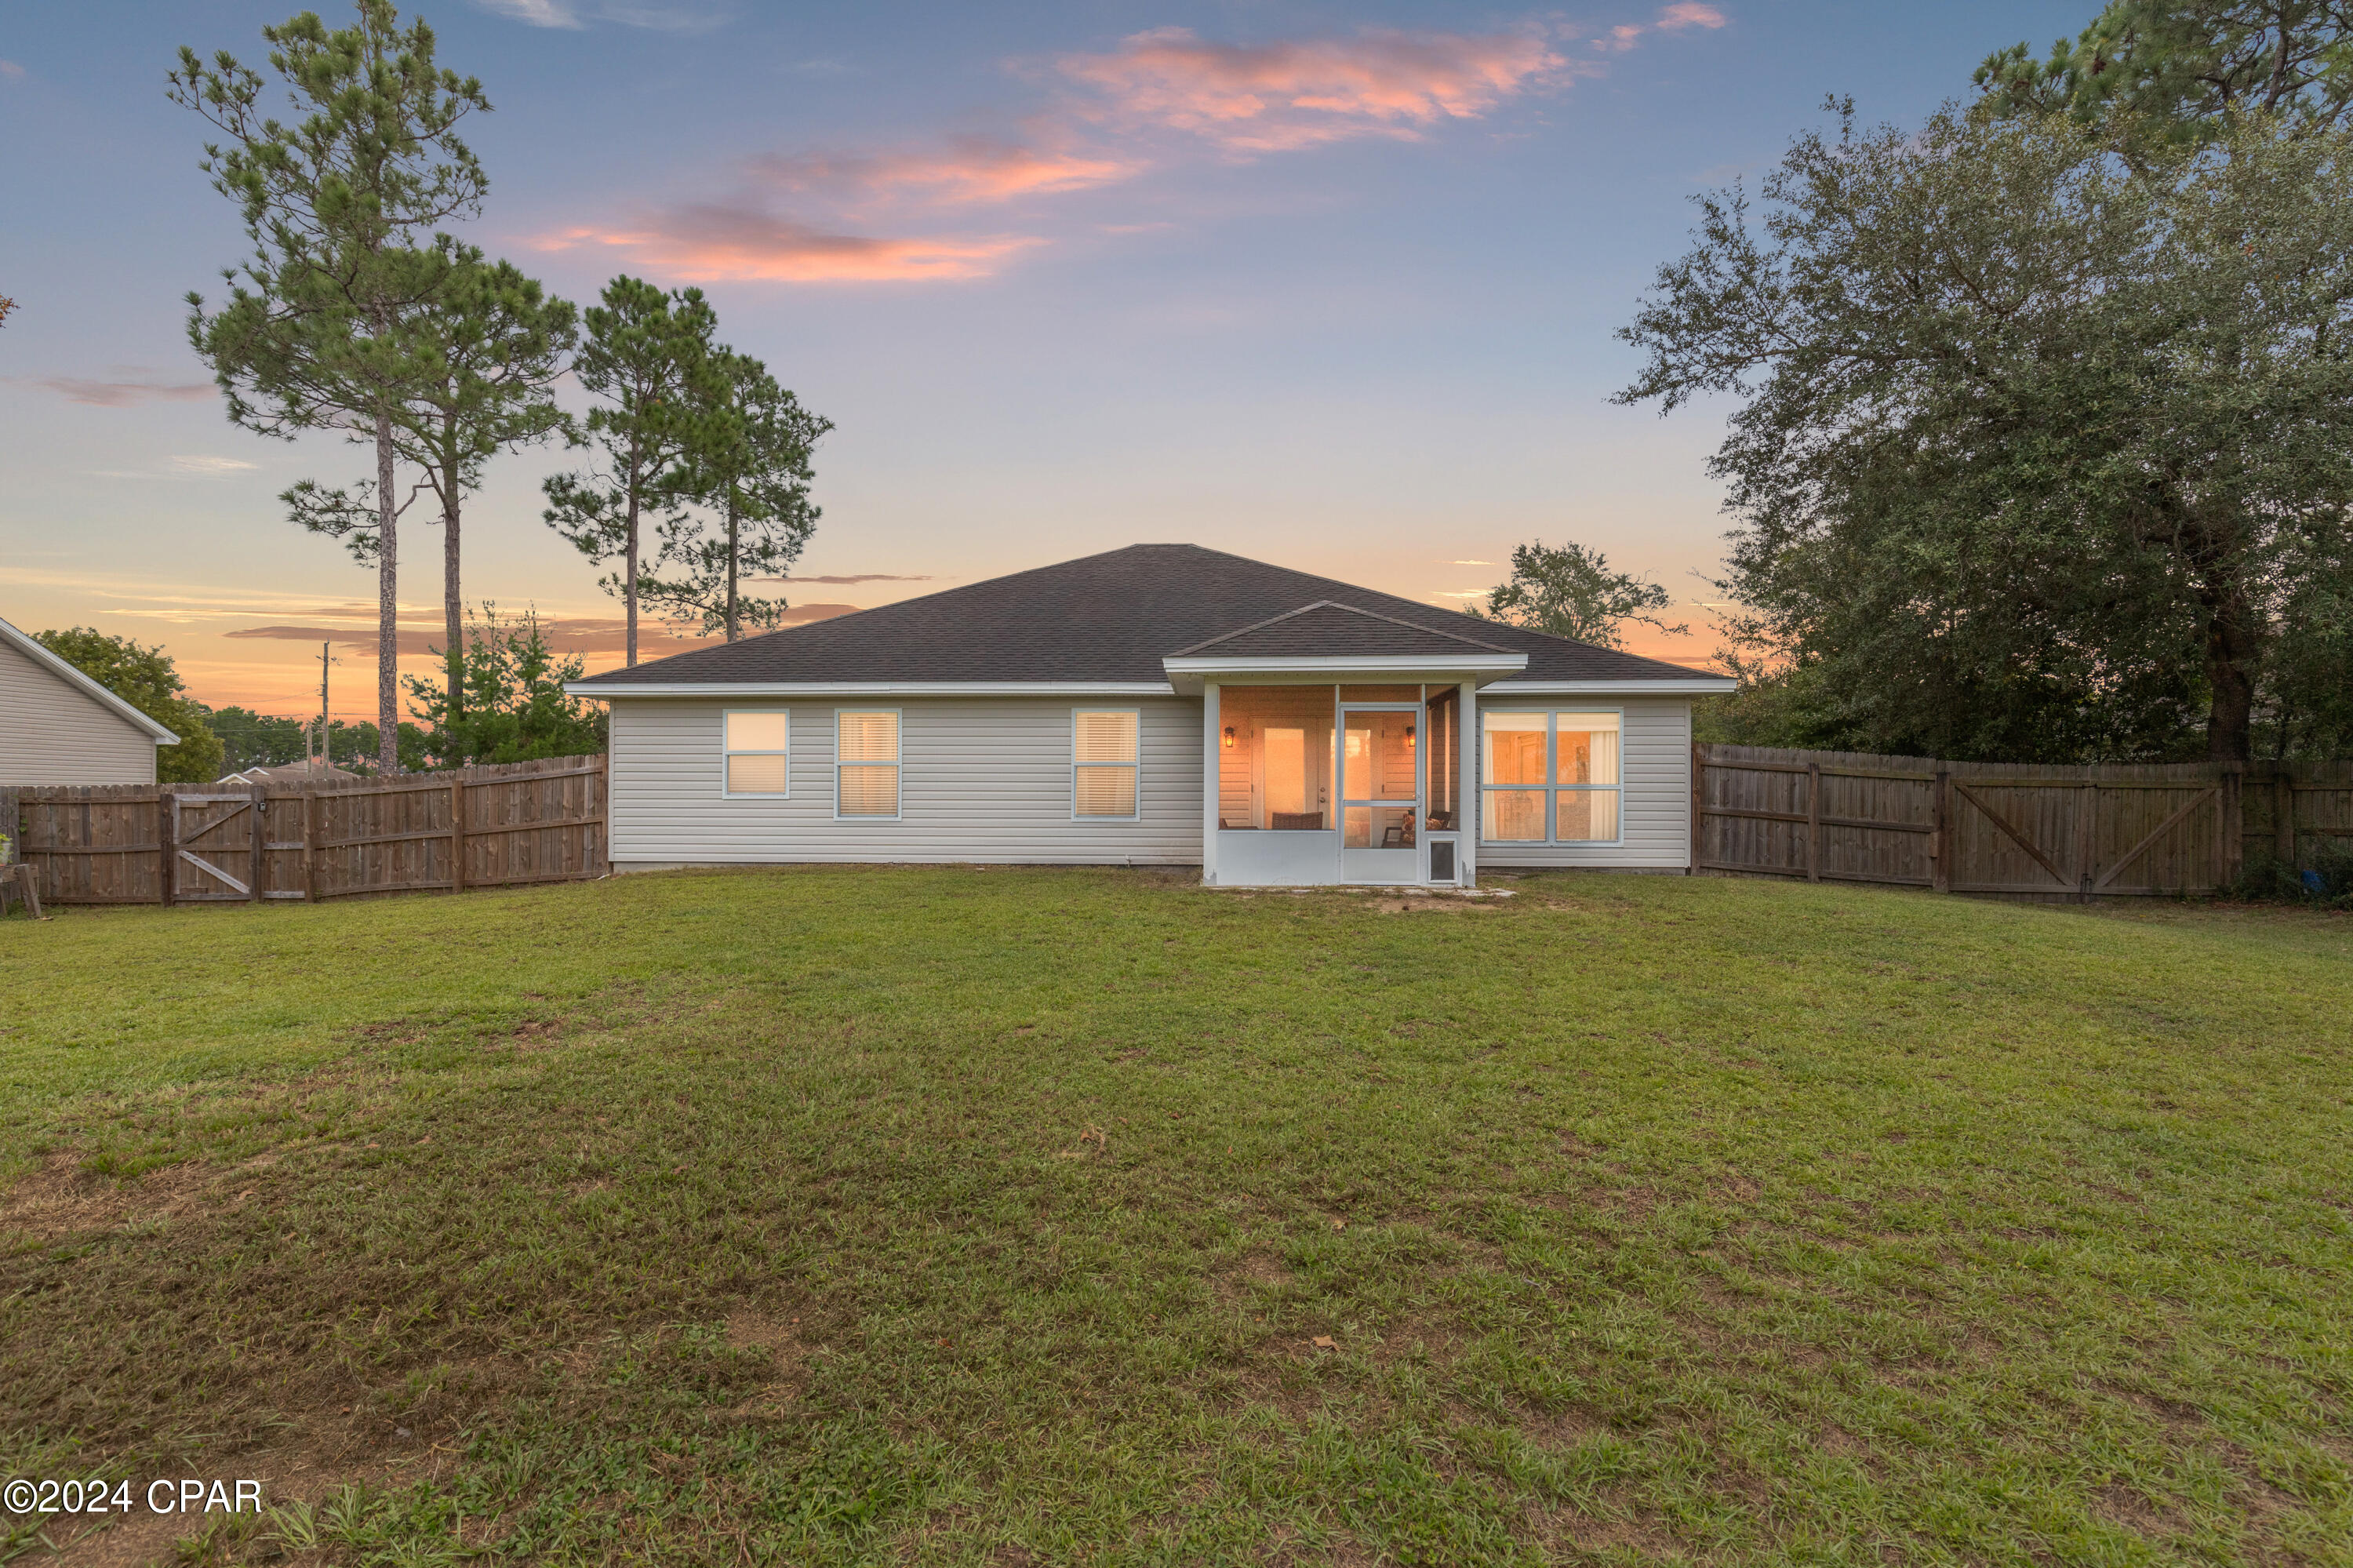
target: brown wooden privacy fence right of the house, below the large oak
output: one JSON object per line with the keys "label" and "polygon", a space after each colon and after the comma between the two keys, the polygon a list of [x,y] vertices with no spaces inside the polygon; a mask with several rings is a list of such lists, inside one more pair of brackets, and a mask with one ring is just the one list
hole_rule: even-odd
{"label": "brown wooden privacy fence right of the house, below the large oak", "polygon": [[2028,768],[1692,746],[1692,869],[2094,899],[2217,892],[2353,841],[2353,765]]}

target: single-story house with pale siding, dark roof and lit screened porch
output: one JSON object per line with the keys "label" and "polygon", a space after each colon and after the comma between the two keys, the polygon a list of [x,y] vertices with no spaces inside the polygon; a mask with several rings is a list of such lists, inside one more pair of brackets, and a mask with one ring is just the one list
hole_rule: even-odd
{"label": "single-story house with pale siding, dark roof and lit screened porch", "polygon": [[1200,866],[1475,885],[1689,866],[1725,676],[1193,544],[1134,544],[567,685],[612,704],[616,871]]}

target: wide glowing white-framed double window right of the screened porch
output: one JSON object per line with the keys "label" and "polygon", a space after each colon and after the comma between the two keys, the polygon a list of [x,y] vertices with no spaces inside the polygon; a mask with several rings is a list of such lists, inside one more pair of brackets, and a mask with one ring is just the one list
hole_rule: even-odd
{"label": "wide glowing white-framed double window right of the screened porch", "polygon": [[1619,843],[1624,709],[1480,709],[1485,843]]}

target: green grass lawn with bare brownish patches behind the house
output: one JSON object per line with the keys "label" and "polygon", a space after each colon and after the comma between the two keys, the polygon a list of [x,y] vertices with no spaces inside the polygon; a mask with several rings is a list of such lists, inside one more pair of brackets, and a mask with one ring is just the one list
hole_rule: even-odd
{"label": "green grass lawn with bare brownish patches behind the house", "polygon": [[1492,885],[12,918],[0,1471],[268,1479],[195,1561],[2353,1563],[2353,918]]}

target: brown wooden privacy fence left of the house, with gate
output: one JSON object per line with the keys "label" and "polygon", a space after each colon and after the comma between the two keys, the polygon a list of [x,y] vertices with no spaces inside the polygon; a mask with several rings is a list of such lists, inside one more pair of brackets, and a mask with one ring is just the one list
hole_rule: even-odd
{"label": "brown wooden privacy fence left of the house, with gate", "polygon": [[0,786],[45,904],[252,904],[605,876],[602,756],[395,779]]}

